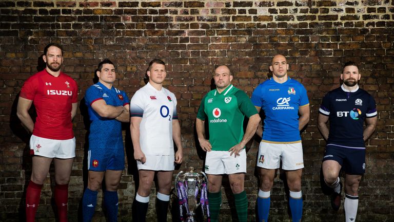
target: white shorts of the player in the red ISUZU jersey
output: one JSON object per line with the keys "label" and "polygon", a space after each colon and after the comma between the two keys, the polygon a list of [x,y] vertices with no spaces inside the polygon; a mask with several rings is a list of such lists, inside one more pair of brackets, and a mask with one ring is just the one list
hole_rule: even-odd
{"label": "white shorts of the player in the red ISUZU jersey", "polygon": [[68,140],[56,140],[32,135],[30,154],[48,158],[73,158],[75,157],[75,137]]}

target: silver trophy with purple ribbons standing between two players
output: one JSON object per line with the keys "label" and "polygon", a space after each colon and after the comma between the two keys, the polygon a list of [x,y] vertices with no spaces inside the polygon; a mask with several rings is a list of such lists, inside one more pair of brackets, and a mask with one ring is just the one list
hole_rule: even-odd
{"label": "silver trophy with purple ribbons standing between two players", "polygon": [[[178,194],[182,221],[195,221],[194,211],[200,205],[203,216],[206,215],[209,218],[207,183],[207,175],[204,172],[194,172],[194,168],[192,167],[189,172],[184,173],[181,171],[176,175],[175,191]],[[186,215],[184,215],[183,209],[186,209]]]}

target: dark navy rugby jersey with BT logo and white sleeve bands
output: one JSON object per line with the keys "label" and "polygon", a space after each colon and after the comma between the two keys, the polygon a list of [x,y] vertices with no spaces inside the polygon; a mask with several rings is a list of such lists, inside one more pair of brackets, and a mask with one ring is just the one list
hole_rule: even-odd
{"label": "dark navy rugby jersey with BT logo and white sleeve bands", "polygon": [[329,117],[330,131],[327,144],[365,147],[364,120],[377,116],[376,103],[367,91],[346,90],[343,86],[329,91],[319,108],[319,113]]}

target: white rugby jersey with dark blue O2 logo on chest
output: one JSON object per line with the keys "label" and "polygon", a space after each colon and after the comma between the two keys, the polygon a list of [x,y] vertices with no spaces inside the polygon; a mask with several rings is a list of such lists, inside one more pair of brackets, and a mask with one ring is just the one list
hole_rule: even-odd
{"label": "white rugby jersey with dark blue O2 logo on chest", "polygon": [[176,98],[168,89],[156,90],[150,83],[137,90],[130,101],[130,117],[141,117],[140,146],[148,155],[173,155],[172,120]]}

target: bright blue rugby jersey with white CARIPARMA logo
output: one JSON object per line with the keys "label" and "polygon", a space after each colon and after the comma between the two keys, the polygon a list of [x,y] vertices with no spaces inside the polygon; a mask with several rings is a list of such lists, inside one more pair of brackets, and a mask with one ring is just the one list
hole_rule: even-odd
{"label": "bright blue rugby jersey with white CARIPARMA logo", "polygon": [[295,143],[301,141],[299,107],[309,105],[305,87],[288,78],[284,83],[272,78],[254,89],[251,101],[265,113],[262,141],[270,143]]}

